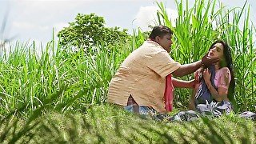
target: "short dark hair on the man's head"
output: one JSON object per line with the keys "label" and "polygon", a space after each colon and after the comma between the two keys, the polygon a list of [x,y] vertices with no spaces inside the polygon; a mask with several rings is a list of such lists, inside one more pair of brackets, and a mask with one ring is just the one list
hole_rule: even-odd
{"label": "short dark hair on the man's head", "polygon": [[170,28],[167,26],[162,26],[162,25],[154,26],[149,38],[154,40],[155,37],[159,36],[162,38],[162,36],[164,36],[166,34],[171,35],[171,34],[173,34],[173,31],[170,30]]}

